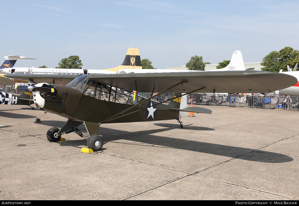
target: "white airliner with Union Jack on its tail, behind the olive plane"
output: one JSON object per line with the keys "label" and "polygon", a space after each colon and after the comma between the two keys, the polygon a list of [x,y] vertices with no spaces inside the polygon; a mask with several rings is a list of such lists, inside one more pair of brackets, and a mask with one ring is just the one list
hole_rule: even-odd
{"label": "white airliner with Union Jack on its tail, behind the olive plane", "polygon": [[[243,57],[241,51],[234,51],[231,57],[230,63],[222,69],[213,69],[209,71],[244,71],[245,66],[243,62]],[[248,68],[246,70],[254,70],[254,68]],[[120,69],[117,73],[164,73],[164,72],[186,72],[194,70],[171,70],[171,69]]]}

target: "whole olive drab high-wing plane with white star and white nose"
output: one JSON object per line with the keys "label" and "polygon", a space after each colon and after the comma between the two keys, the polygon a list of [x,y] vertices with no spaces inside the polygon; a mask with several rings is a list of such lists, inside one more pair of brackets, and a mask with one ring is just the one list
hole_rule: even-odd
{"label": "whole olive drab high-wing plane with white star and white nose", "polygon": [[[45,78],[48,77],[49,75],[45,75]],[[52,78],[58,77],[54,75]],[[32,74],[28,79],[37,83],[42,81],[42,76]],[[103,139],[97,135],[97,131],[103,123],[176,119],[182,127],[180,112],[212,112],[200,107],[182,108],[181,97],[185,94],[267,93],[287,88],[297,82],[295,77],[266,71],[83,74],[66,86],[37,83],[28,86],[28,90],[33,92],[36,106],[68,118],[62,128],[53,127],[48,130],[49,141],[59,141],[62,135],[70,132],[86,138],[78,129],[78,126],[84,124],[89,135],[86,138],[87,147],[98,151],[103,145]],[[137,91],[149,92],[151,95],[141,97],[136,95]],[[163,102],[154,100],[164,92],[175,94],[168,96]],[[103,96],[106,98],[103,99]],[[122,101],[116,101],[117,96]]]}

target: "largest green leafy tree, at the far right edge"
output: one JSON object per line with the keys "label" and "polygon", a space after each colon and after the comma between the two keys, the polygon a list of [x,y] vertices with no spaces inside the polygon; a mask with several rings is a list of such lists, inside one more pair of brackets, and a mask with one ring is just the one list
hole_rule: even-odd
{"label": "largest green leafy tree, at the far right edge", "polygon": [[293,69],[297,62],[299,62],[299,51],[292,47],[285,47],[280,51],[271,51],[263,58],[262,71],[279,72],[280,69],[288,71],[287,65]]}

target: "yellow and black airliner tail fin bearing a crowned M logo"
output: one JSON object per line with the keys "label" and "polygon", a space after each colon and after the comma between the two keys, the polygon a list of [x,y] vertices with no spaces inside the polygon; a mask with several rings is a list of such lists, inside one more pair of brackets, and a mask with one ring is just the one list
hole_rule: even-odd
{"label": "yellow and black airliner tail fin bearing a crowned M logo", "polygon": [[103,69],[107,71],[118,71],[120,69],[142,69],[139,49],[129,48],[123,63],[118,67]]}

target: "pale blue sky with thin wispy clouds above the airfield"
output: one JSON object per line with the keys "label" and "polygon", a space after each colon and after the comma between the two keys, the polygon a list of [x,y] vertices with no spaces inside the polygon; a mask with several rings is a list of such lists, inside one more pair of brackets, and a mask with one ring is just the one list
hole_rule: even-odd
{"label": "pale blue sky with thin wispy clouds above the airfield", "polygon": [[[2,1],[0,57],[15,67],[54,68],[78,55],[87,69],[113,68],[128,48],[158,69],[204,62],[260,62],[271,51],[299,50],[299,1]],[[3,59],[4,60],[4,59]]]}

